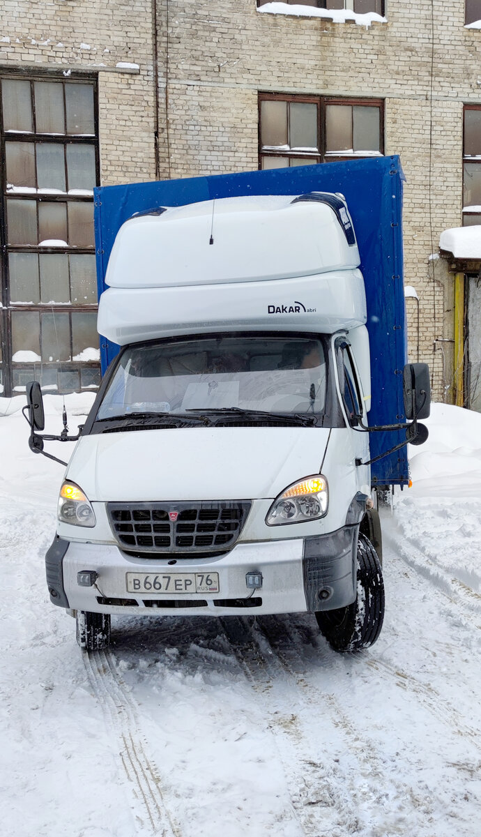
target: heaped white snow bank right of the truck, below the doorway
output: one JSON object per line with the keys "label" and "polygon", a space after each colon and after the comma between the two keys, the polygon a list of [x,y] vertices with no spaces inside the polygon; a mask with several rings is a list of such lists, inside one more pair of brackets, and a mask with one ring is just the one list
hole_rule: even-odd
{"label": "heaped white snow bank right of the truck, below the doorway", "polygon": [[412,489],[424,497],[481,496],[481,414],[434,403],[429,438],[409,446]]}

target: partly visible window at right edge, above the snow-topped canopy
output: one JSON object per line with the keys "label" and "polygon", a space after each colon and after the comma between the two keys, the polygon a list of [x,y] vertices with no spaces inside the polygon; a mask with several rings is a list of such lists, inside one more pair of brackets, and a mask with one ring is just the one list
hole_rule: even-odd
{"label": "partly visible window at right edge, above the snow-topped canopy", "polygon": [[481,107],[464,108],[463,225],[481,223]]}

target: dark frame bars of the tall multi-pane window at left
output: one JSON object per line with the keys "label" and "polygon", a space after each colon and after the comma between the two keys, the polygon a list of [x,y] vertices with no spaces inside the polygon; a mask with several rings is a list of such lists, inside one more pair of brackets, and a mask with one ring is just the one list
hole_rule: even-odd
{"label": "dark frame bars of the tall multi-pane window at left", "polygon": [[[3,128],[3,95],[2,84],[3,80],[28,81],[30,84],[30,106],[32,109],[33,129],[30,133],[22,133],[21,131],[8,130]],[[79,84],[90,85],[93,88],[94,95],[94,133],[88,136],[80,134],[67,134],[67,125],[65,124],[64,134],[49,134],[47,132],[38,132],[35,123],[35,82],[55,82],[63,85],[63,102],[64,102],[64,116],[66,115],[66,100],[65,100],[65,84]],[[49,193],[8,193],[7,191],[7,160],[5,147],[8,142],[26,142],[26,143],[43,143],[55,144],[64,146],[64,170],[65,170],[65,184],[68,186],[68,162],[66,149],[69,145],[84,145],[93,146],[95,149],[95,185],[100,183],[100,132],[99,132],[99,82],[98,74],[84,73],[72,71],[68,78],[59,70],[48,69],[3,69],[0,72],[0,275],[1,275],[1,289],[0,301],[2,302],[2,311],[0,311],[0,336],[3,338],[2,356],[3,362],[0,362],[3,372],[3,395],[13,393],[13,372],[21,372],[23,369],[27,370],[33,366],[33,362],[13,362],[13,336],[12,336],[12,313],[23,312],[38,312],[42,313],[68,313],[69,314],[69,329],[70,329],[70,349],[72,347],[72,325],[71,315],[75,312],[95,312],[98,307],[98,302],[89,302],[79,305],[72,305],[70,303],[41,303],[25,304],[10,299],[10,281],[9,281],[9,254],[12,253],[28,253],[28,254],[67,254],[67,255],[91,255],[95,258],[95,241],[90,246],[76,247],[67,245],[66,247],[45,247],[38,244],[8,244],[8,198],[18,200],[34,200],[36,203],[36,218],[38,229],[38,207],[40,203],[64,203],[66,206],[67,216],[67,231],[69,228],[69,203],[94,203],[93,195],[72,195],[65,193],[49,194]],[[37,181],[36,181],[37,182]],[[69,237],[68,237],[69,238]],[[69,274],[69,290],[70,274]],[[40,339],[40,336],[39,336]],[[72,356],[71,356],[72,357]],[[62,361],[62,362],[36,362],[38,367],[58,367],[60,372],[78,372],[79,381],[81,382],[82,369],[100,368],[100,362],[89,361]],[[81,384],[80,384],[81,388]],[[49,391],[49,390],[47,390]],[[69,390],[70,391],[70,390]],[[59,388],[58,392],[62,392]]]}

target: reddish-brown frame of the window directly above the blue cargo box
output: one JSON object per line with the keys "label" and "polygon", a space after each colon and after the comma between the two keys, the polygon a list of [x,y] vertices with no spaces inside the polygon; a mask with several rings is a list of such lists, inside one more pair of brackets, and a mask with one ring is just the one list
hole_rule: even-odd
{"label": "reddish-brown frame of the window directly above the blue cargo box", "polygon": [[[285,101],[297,102],[299,104],[317,105],[317,136],[318,136],[318,151],[276,151],[275,149],[265,151],[261,143],[262,131],[262,102],[263,101]],[[372,97],[360,96],[319,96],[319,95],[304,95],[304,94],[285,94],[285,93],[270,93],[267,91],[259,91],[258,93],[258,168],[262,169],[262,161],[264,157],[281,157],[289,161],[289,157],[303,158],[306,164],[309,165],[310,160],[318,163],[326,162],[340,162],[343,160],[362,160],[371,155],[362,153],[354,154],[333,154],[325,151],[326,140],[326,105],[351,105],[361,107],[377,107],[379,109],[379,140],[381,151],[379,156],[385,155],[385,102],[383,99],[376,99]],[[289,109],[288,109],[288,131],[289,131]]]}

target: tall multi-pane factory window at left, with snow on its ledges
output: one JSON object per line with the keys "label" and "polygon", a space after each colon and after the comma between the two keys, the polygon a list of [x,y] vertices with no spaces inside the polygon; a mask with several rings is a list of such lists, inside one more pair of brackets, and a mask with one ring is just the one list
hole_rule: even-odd
{"label": "tall multi-pane factory window at left, with snow on its ledges", "polygon": [[4,392],[100,382],[93,188],[95,80],[0,80]]}

